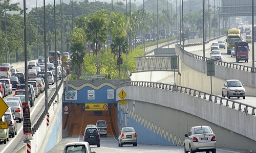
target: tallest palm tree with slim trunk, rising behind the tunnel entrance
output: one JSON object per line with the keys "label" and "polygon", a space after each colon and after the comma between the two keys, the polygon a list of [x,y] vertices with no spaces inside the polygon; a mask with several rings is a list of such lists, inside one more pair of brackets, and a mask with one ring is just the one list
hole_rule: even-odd
{"label": "tallest palm tree with slim trunk, rising behind the tunnel entrance", "polygon": [[96,44],[95,54],[97,60],[97,74],[99,74],[99,64],[98,64],[98,44],[105,43],[106,39],[108,39],[108,28],[106,24],[106,11],[101,10],[97,11],[88,18],[88,22],[86,22],[86,27],[84,32],[86,33],[86,41],[92,42]]}

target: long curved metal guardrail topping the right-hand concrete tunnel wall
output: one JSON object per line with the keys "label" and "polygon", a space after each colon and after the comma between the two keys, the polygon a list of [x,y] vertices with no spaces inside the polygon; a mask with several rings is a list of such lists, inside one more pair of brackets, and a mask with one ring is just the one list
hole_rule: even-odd
{"label": "long curved metal guardrail topping the right-hand concrete tunnel wall", "polygon": [[[147,87],[147,88],[156,88],[156,89],[162,89],[162,90],[169,90],[172,92],[179,92],[179,93],[184,93],[184,94],[189,94],[191,96],[197,96],[198,98],[203,98],[207,101],[212,101],[213,103],[229,107],[237,110],[237,111],[242,111],[246,114],[250,115],[255,115],[255,107],[241,103],[236,100],[224,98],[219,95],[215,94],[210,94],[204,91],[196,90],[193,88],[188,88],[184,86],[179,86],[179,85],[170,85],[170,84],[164,84],[164,83],[159,83],[159,82],[143,82],[143,81],[129,81],[129,82],[124,82],[121,83],[120,85],[117,86],[117,89],[120,87],[125,87],[125,86],[138,86],[138,87]],[[207,98],[208,96],[208,98]],[[211,98],[212,97],[212,98]],[[213,99],[213,100],[212,100]],[[223,105],[224,104],[224,105]],[[238,106],[238,107],[236,107]],[[251,109],[251,113],[249,113],[248,109]]]}

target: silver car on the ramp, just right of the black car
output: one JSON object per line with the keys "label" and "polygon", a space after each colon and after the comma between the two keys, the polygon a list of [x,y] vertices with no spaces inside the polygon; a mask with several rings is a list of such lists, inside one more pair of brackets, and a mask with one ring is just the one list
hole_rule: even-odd
{"label": "silver car on the ramp, just right of the black car", "polygon": [[118,146],[123,144],[133,144],[137,146],[137,133],[133,127],[123,127],[118,137]]}

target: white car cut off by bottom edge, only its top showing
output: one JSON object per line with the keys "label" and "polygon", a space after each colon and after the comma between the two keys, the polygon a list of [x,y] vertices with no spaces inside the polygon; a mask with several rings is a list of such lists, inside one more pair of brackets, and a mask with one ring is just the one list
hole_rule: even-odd
{"label": "white car cut off by bottom edge, only its top showing", "polygon": [[70,152],[87,152],[87,153],[96,153],[95,151],[91,150],[91,147],[88,142],[70,142],[67,143],[63,153],[70,153]]}

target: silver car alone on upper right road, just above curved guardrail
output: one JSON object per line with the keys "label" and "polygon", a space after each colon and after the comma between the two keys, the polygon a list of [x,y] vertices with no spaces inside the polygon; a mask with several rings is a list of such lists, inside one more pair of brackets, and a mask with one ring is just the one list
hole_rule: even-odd
{"label": "silver car alone on upper right road, just above curved guardrail", "polygon": [[222,96],[227,98],[243,97],[245,99],[245,89],[239,80],[226,80],[222,86]]}

